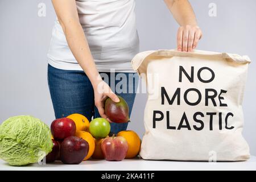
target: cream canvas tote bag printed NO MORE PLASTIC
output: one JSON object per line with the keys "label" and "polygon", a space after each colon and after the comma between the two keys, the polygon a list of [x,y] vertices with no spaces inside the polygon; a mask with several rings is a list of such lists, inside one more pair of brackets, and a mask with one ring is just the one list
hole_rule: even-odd
{"label": "cream canvas tote bag printed NO MORE PLASTIC", "polygon": [[146,51],[132,60],[146,81],[140,155],[153,160],[250,158],[242,100],[250,59],[207,51]]}

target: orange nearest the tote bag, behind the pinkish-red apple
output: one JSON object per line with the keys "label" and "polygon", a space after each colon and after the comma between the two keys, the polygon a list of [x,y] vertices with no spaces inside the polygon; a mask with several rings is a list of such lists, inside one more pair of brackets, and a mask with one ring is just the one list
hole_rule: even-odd
{"label": "orange nearest the tote bag, behind the pinkish-red apple", "polygon": [[124,137],[128,143],[128,151],[125,158],[135,158],[141,149],[141,139],[134,131],[120,131],[117,136]]}

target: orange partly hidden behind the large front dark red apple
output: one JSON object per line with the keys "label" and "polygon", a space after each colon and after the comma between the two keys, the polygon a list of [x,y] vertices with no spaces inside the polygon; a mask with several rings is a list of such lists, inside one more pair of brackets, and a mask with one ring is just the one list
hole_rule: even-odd
{"label": "orange partly hidden behind the large front dark red apple", "polygon": [[93,155],[95,149],[95,142],[93,136],[87,131],[76,131],[76,137],[82,138],[89,143],[89,151],[88,154],[85,156],[84,160],[89,159]]}

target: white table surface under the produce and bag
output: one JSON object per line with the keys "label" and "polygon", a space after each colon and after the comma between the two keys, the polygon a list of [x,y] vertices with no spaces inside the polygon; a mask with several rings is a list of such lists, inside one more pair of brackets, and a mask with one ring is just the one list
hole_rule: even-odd
{"label": "white table surface under the produce and bag", "polygon": [[30,166],[9,166],[0,160],[0,170],[32,170],[32,171],[58,171],[58,170],[84,170],[84,171],[158,171],[158,170],[256,170],[256,156],[246,162],[176,162],[156,161],[143,159],[125,159],[121,162],[108,162],[106,160],[87,160],[77,165],[67,165],[61,162],[53,164],[32,164]]}

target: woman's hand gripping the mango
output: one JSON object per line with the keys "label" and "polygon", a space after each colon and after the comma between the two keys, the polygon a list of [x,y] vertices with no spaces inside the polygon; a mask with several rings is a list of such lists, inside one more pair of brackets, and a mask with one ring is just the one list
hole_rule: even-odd
{"label": "woman's hand gripping the mango", "polygon": [[105,114],[104,104],[106,98],[111,98],[114,102],[119,102],[119,98],[110,89],[109,85],[105,81],[100,80],[96,85],[93,85],[94,89],[94,102],[102,118],[107,119],[110,123],[110,119]]}

